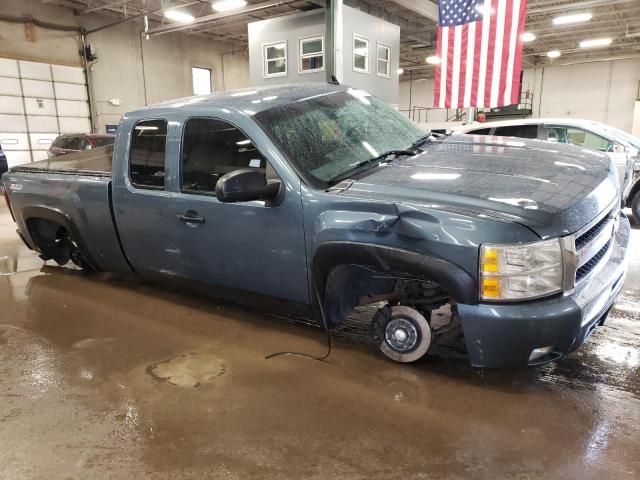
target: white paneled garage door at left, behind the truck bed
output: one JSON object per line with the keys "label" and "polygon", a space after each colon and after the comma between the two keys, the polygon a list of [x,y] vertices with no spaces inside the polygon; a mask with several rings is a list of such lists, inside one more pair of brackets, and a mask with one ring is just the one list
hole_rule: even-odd
{"label": "white paneled garage door at left, behind the truck bed", "polygon": [[60,133],[90,131],[82,68],[0,58],[0,145],[9,166],[47,158]]}

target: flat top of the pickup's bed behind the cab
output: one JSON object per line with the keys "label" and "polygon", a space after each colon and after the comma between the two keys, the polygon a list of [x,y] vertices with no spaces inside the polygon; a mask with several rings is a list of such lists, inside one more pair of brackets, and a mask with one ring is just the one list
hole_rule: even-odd
{"label": "flat top of the pickup's bed behind the cab", "polygon": [[62,175],[84,175],[111,177],[113,145],[98,147],[83,152],[69,153],[39,162],[18,165],[12,172],[57,173]]}

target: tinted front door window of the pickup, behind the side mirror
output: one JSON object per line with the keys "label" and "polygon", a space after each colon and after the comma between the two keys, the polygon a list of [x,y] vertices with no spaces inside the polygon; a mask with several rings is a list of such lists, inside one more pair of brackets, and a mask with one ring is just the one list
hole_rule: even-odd
{"label": "tinted front door window of the pickup, behind the side mirror", "polygon": [[240,168],[266,173],[267,162],[236,126],[216,118],[192,118],[184,129],[180,189],[214,195],[218,179]]}

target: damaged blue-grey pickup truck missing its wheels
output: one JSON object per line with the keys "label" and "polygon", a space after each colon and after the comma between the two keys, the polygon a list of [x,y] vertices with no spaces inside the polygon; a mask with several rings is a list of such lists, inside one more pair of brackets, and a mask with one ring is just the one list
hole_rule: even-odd
{"label": "damaged blue-grey pickup truck missing its wheels", "polygon": [[629,222],[606,155],[424,135],[344,86],[147,107],[113,147],[3,182],[45,260],[168,278],[329,330],[383,302],[372,335],[400,362],[438,341],[431,312],[447,304],[472,365],[555,360],[605,322],[625,277]]}

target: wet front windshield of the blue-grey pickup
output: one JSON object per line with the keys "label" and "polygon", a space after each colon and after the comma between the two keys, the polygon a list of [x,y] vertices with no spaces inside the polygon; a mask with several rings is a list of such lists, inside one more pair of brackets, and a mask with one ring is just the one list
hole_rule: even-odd
{"label": "wet front windshield of the blue-grey pickup", "polygon": [[[383,101],[361,90],[319,95],[259,112],[254,119],[312,186],[358,172],[367,160],[406,149],[422,132]],[[356,173],[354,171],[354,173]]]}

